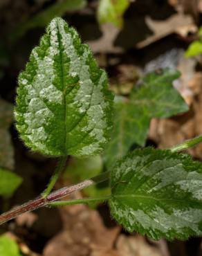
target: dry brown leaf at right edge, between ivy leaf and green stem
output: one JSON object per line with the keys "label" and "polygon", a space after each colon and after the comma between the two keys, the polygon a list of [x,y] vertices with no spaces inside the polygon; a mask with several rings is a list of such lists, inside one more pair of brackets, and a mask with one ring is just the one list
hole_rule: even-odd
{"label": "dry brown leaf at right edge, between ivy leaf and green stem", "polygon": [[[183,70],[184,85],[192,92],[190,111],[177,118],[152,120],[149,138],[160,148],[169,148],[202,134],[202,73],[196,72],[192,79],[188,80],[189,75],[185,72],[188,71]],[[202,145],[189,149],[189,153],[195,158],[202,159]]]}

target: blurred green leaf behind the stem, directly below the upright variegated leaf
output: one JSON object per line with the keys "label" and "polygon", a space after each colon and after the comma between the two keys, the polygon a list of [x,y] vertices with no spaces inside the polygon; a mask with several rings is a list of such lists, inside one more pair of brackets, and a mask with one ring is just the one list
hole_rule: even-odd
{"label": "blurred green leaf behind the stem, directly below the upright variegated leaf", "polygon": [[[101,156],[71,158],[64,172],[64,179],[71,179],[72,183],[78,183],[101,174],[102,168]],[[109,187],[99,188],[97,185],[92,185],[83,191],[86,196],[90,197],[104,196],[110,193]]]}

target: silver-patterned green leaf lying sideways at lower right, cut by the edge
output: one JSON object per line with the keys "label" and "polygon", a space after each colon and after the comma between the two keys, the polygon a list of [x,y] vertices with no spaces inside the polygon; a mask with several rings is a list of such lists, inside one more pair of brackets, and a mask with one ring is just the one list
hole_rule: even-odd
{"label": "silver-patterned green leaf lying sideways at lower right, cut by the edge", "polygon": [[202,235],[202,164],[185,154],[136,149],[111,172],[112,216],[152,239]]}

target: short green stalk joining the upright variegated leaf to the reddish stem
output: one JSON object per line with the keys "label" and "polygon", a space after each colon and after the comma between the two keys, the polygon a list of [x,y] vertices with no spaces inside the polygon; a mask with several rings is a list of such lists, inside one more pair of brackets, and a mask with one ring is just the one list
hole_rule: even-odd
{"label": "short green stalk joining the upright variegated leaf to the reddish stem", "polygon": [[57,179],[59,178],[59,175],[61,174],[62,170],[64,169],[65,164],[66,164],[66,156],[59,159],[57,167],[55,168],[55,172],[53,173],[53,176],[51,176],[46,190],[42,192],[42,197],[46,198],[48,194],[50,194],[50,192],[53,190],[53,187],[57,182]]}

